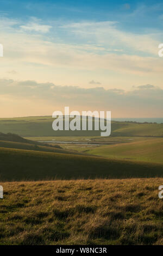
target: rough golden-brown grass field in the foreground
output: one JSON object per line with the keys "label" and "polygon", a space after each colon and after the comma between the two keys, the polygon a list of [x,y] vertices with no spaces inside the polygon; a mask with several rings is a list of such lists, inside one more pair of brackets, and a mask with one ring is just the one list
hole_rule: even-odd
{"label": "rough golden-brown grass field in the foreground", "polygon": [[6,182],[1,245],[163,245],[163,179]]}

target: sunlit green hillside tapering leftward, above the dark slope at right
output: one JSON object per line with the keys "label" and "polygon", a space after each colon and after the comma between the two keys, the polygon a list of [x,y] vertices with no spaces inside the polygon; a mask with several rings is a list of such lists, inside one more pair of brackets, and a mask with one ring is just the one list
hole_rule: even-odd
{"label": "sunlit green hillside tapering leftward, above the dark slope at right", "polygon": [[130,143],[103,145],[87,151],[92,155],[109,157],[111,159],[128,159],[162,163],[163,138],[143,139]]}

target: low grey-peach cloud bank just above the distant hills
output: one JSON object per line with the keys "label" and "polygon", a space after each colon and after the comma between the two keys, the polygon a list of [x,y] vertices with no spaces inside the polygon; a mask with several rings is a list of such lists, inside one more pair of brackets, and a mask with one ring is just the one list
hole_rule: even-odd
{"label": "low grey-peach cloud bank just above the distant hills", "polygon": [[[161,117],[163,114],[163,90],[149,84],[126,91],[117,88],[86,89],[35,81],[0,80],[0,99],[3,99],[0,103],[4,109],[1,114],[3,116],[5,112],[9,116],[12,106],[17,106],[15,116],[21,115],[22,109],[24,115],[51,115],[55,110],[62,111],[64,106],[78,111],[108,110],[114,117]],[[23,101],[28,104],[22,103]],[[33,106],[30,112],[28,105]]]}

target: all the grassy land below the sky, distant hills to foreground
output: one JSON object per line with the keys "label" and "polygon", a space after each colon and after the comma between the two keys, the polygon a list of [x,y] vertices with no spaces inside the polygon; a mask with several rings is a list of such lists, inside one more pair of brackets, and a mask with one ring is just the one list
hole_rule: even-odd
{"label": "all the grassy land below the sky, distant hills to foreground", "polygon": [[[0,133],[0,245],[163,245],[162,124],[101,137],[56,135],[52,121],[0,121],[24,136]],[[37,142],[52,140],[66,143]]]}

